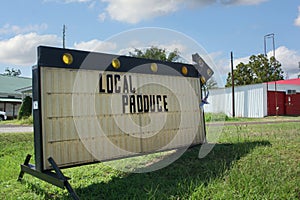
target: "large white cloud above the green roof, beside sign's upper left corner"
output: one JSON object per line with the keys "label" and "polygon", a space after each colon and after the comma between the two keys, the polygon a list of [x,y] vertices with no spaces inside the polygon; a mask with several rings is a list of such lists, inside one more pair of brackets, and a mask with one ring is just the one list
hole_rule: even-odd
{"label": "large white cloud above the green roof, beside sign's upper left corner", "polygon": [[28,33],[0,41],[0,61],[3,64],[28,66],[36,63],[36,48],[39,45],[57,46],[56,35]]}

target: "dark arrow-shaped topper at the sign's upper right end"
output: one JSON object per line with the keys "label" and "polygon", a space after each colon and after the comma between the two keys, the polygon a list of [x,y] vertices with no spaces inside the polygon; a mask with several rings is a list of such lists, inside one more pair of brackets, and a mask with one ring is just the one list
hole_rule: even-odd
{"label": "dark arrow-shaped topper at the sign's upper right end", "polygon": [[192,55],[193,61],[196,63],[194,67],[200,74],[202,83],[206,83],[210,77],[214,74],[214,71],[206,64],[206,62],[199,56],[198,53]]}

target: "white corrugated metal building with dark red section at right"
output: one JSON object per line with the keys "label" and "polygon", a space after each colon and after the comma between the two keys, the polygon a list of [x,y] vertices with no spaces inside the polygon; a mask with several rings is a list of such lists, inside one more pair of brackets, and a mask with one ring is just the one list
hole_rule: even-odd
{"label": "white corrugated metal building with dark red section at right", "polygon": [[[300,115],[300,79],[235,87],[235,116]],[[231,87],[211,89],[205,112],[233,115]]]}

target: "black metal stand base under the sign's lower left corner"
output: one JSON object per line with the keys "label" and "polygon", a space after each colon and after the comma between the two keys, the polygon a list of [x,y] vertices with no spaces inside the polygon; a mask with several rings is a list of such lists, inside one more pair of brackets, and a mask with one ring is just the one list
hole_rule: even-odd
{"label": "black metal stand base under the sign's lower left corner", "polygon": [[57,166],[57,164],[55,163],[52,157],[48,158],[48,162],[53,167],[55,173],[51,171],[45,171],[45,172],[37,171],[34,165],[29,164],[30,158],[31,155],[28,154],[26,156],[24,164],[21,165],[21,171],[18,177],[18,181],[22,180],[24,173],[28,173],[34,177],[37,177],[43,181],[51,183],[52,185],[55,185],[62,189],[66,188],[74,200],[79,200],[79,197],[77,196],[76,192],[73,190],[72,186],[68,181],[70,178],[65,177],[63,175],[63,173],[61,172],[61,170],[59,169],[59,167]]}

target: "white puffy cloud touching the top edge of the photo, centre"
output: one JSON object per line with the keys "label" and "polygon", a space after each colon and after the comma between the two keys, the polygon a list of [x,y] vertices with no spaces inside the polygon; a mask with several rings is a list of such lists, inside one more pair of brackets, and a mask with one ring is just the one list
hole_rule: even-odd
{"label": "white puffy cloud touching the top edge of the photo, centre", "polygon": [[113,20],[136,24],[140,21],[167,15],[189,7],[203,7],[212,4],[257,5],[268,0],[102,0],[108,3],[106,12]]}

